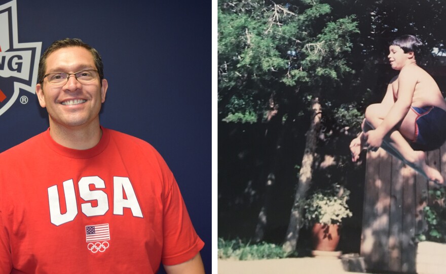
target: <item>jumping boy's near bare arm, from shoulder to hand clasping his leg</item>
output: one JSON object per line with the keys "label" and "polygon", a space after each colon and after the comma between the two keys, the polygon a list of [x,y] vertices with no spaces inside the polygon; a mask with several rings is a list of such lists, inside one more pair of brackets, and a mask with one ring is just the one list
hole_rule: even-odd
{"label": "jumping boy's near bare arm, from shoulder to hand clasping his leg", "polygon": [[418,77],[415,67],[403,68],[400,71],[398,76],[398,99],[376,130],[367,132],[367,144],[370,148],[379,148],[384,136],[404,119],[411,108],[417,82]]}

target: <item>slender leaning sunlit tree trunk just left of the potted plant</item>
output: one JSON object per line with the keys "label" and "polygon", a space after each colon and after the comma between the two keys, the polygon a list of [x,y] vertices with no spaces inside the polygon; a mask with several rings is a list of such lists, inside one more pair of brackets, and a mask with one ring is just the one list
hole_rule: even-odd
{"label": "slender leaning sunlit tree trunk just left of the potted plant", "polygon": [[304,224],[304,218],[302,216],[302,202],[304,201],[311,184],[314,155],[317,145],[317,134],[320,130],[320,120],[321,106],[319,104],[319,98],[314,97],[312,99],[310,128],[306,133],[307,140],[305,144],[304,157],[302,159],[302,166],[299,172],[298,187],[296,188],[294,203],[291,208],[285,242],[282,246],[283,250],[286,252],[292,252],[296,249],[296,244],[299,239],[299,231]]}

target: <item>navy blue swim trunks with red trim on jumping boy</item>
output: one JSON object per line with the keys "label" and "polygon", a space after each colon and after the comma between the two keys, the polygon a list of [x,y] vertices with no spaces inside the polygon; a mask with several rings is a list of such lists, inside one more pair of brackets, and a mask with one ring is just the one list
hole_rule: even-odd
{"label": "navy blue swim trunks with red trim on jumping boy", "polygon": [[446,111],[438,107],[411,107],[417,114],[415,140],[409,142],[414,150],[430,151],[446,141]]}

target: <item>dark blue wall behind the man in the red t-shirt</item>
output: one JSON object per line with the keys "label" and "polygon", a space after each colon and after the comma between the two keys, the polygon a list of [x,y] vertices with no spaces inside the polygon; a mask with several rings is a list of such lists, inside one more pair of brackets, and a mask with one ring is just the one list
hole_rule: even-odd
{"label": "dark blue wall behind the man in the red t-shirt", "polygon": [[[41,42],[41,50],[34,48],[38,57],[65,37],[99,51],[109,85],[101,124],[137,136],[163,155],[205,242],[201,254],[211,273],[211,2],[16,1],[17,33],[0,14],[0,48],[16,35],[18,43]],[[0,6],[10,2],[0,0]],[[0,152],[49,125],[26,88],[11,101],[13,81],[26,85],[32,79],[7,75],[18,66],[25,70],[26,63],[7,57],[3,64],[0,59]]]}

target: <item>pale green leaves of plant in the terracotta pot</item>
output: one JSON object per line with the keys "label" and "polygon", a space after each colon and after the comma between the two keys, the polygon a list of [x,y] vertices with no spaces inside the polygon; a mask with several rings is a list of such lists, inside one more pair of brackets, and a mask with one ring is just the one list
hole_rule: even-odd
{"label": "pale green leaves of plant in the terracotta pot", "polygon": [[340,224],[344,218],[351,217],[352,212],[347,205],[349,195],[350,191],[338,184],[316,190],[304,202],[307,224]]}

